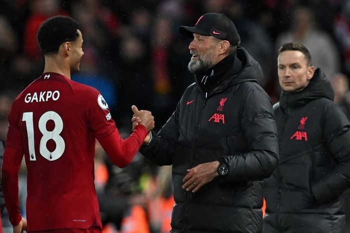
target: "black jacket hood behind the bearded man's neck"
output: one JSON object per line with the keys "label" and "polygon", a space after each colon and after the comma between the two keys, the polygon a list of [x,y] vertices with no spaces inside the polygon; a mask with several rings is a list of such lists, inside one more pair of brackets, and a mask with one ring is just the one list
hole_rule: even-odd
{"label": "black jacket hood behind the bearded man's neck", "polygon": [[[229,86],[236,85],[242,82],[255,82],[262,80],[262,70],[260,65],[248,54],[248,52],[237,46],[237,52],[234,55],[232,66],[223,75],[222,81],[219,82],[211,91],[210,94],[220,92]],[[195,79],[198,85],[198,81]]]}

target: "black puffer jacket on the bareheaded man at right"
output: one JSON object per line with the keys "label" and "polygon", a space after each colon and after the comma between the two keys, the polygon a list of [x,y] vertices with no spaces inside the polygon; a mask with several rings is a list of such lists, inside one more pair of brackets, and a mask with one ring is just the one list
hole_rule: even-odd
{"label": "black puffer jacket on the bareheaded man at right", "polygon": [[339,194],[349,187],[349,122],[319,69],[300,92],[273,106],[280,164],[264,181],[263,232],[344,231]]}

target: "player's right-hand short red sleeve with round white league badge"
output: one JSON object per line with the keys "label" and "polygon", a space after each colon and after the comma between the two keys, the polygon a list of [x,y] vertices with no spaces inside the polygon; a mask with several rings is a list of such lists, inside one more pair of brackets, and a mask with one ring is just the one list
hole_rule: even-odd
{"label": "player's right-hand short red sleeve with round white league badge", "polygon": [[107,137],[116,129],[108,104],[96,89],[91,90],[88,102],[87,119],[89,127],[97,140]]}

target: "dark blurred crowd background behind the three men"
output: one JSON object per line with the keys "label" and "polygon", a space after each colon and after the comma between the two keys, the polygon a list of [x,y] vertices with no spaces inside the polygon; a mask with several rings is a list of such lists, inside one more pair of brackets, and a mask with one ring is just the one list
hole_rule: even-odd
{"label": "dark blurred crowd background behind the three men", "polygon": [[[259,81],[273,103],[280,94],[277,50],[293,41],[309,49],[313,65],[322,68],[333,85],[335,102],[350,113],[350,1],[0,0],[0,140],[5,140],[13,99],[42,73],[36,32],[47,18],[66,15],[80,24],[85,55],[72,80],[102,93],[126,137],[132,104],[152,111],[157,131],[194,81],[187,71],[190,40],[178,34],[178,27],[194,26],[209,12],[224,13],[234,22],[241,46],[263,70]],[[105,232],[168,232],[171,167],[159,169],[137,154],[128,167],[119,169],[96,143],[95,170]],[[25,215],[24,168],[21,174]],[[9,226],[5,212],[2,221]]]}

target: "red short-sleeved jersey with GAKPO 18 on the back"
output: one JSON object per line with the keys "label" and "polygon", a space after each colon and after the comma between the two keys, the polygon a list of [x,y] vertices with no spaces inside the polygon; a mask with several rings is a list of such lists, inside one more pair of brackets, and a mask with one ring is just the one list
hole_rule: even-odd
{"label": "red short-sleeved jersey with GAKPO 18 on the back", "polygon": [[19,94],[6,146],[24,152],[28,230],[101,226],[95,138],[115,130],[101,94],[62,75],[44,73]]}

